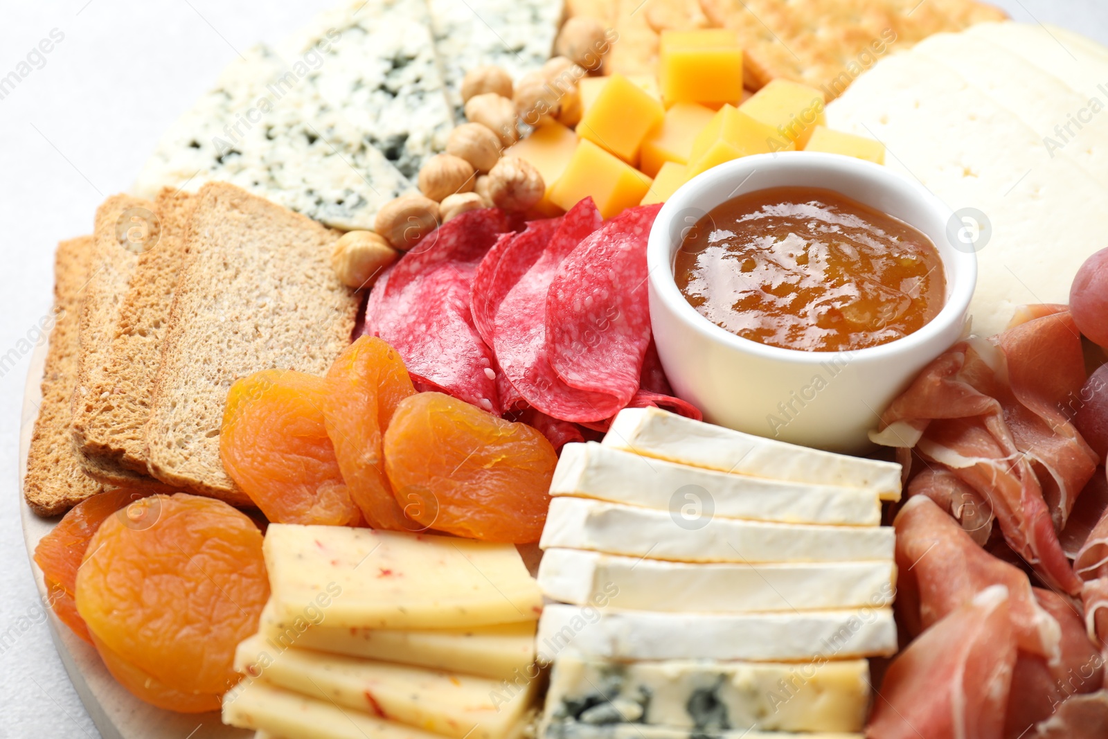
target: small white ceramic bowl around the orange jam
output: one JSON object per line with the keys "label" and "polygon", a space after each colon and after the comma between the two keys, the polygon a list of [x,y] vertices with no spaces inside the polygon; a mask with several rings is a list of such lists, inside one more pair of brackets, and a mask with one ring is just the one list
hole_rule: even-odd
{"label": "small white ceramic bowl around the orange jam", "polygon": [[[800,351],[740,338],[697,312],[674,280],[674,255],[685,230],[737,195],[784,186],[837,191],[930,237],[946,270],[946,304],[938,316],[879,347]],[[650,321],[674,390],[711,423],[830,451],[871,449],[868,432],[880,413],[963,333],[977,259],[951,244],[952,217],[914,179],[835,154],[747,156],[694,177],[661,208],[647,247]]]}

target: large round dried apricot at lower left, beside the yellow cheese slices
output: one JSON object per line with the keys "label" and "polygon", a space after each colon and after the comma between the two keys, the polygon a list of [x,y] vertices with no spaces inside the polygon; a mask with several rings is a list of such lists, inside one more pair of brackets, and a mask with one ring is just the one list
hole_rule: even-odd
{"label": "large round dried apricot at lower left, beside the yellow cheese slices", "polygon": [[269,581],[261,533],[222,501],[151,499],[154,521],[110,516],[89,542],[76,608],[109,671],[168,710],[219,707],[235,647],[257,632]]}

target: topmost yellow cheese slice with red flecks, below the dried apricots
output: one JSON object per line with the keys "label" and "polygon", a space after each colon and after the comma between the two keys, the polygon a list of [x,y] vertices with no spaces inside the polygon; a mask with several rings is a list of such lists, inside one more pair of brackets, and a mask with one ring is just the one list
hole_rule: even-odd
{"label": "topmost yellow cheese slice with red flecks, below the dried apricots", "polygon": [[263,552],[283,619],[321,609],[328,626],[462,628],[532,622],[542,610],[538,586],[511,544],[270,524]]}

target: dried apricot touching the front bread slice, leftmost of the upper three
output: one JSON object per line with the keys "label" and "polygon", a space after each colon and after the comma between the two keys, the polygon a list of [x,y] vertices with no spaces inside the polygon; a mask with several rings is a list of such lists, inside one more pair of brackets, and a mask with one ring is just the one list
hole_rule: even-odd
{"label": "dried apricot touching the front bread slice, leftmost of the upper three", "polygon": [[230,386],[219,433],[227,474],[275,523],[357,525],[324,424],[326,382],[264,370]]}

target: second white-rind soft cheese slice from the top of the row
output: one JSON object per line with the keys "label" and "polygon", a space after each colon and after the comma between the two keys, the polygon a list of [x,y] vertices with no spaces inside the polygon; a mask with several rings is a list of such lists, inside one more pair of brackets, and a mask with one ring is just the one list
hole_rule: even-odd
{"label": "second white-rind soft cheese slice from the top of the row", "polygon": [[578,495],[660,511],[710,507],[728,519],[876,526],[872,490],[727,474],[596,442],[562,448],[551,495]]}

